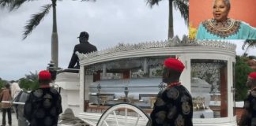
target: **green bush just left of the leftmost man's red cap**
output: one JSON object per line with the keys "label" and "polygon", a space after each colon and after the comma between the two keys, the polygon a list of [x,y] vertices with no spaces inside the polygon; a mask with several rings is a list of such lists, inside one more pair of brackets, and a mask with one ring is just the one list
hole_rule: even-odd
{"label": "green bush just left of the leftmost man's red cap", "polygon": [[24,78],[20,79],[20,87],[27,91],[35,90],[39,88],[38,74],[30,72],[29,75],[25,75]]}

